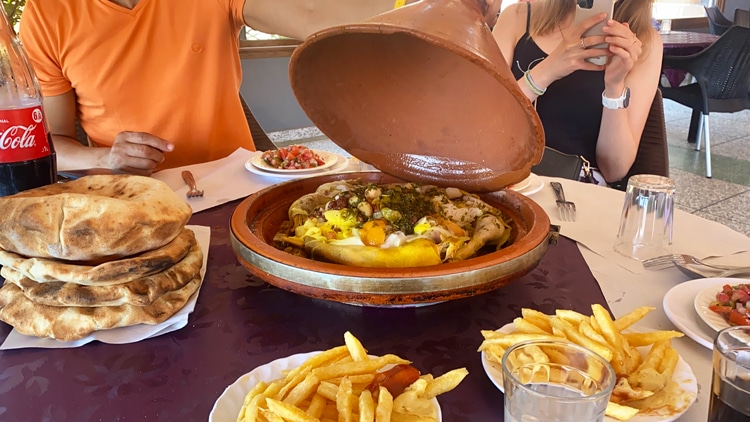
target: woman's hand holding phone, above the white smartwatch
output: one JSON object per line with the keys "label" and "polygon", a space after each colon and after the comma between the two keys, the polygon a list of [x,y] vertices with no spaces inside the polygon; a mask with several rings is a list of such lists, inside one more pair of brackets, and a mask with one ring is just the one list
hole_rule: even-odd
{"label": "woman's hand holding phone, above the white smartwatch", "polygon": [[625,77],[641,56],[643,44],[627,23],[609,20],[603,31],[607,34],[604,40],[612,53],[604,71],[604,86],[607,96],[615,98],[625,89]]}

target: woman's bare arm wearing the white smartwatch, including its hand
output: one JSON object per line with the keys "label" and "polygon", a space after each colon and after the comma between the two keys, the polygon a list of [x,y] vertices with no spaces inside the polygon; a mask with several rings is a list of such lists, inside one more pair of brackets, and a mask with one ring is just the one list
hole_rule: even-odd
{"label": "woman's bare arm wearing the white smartwatch, including its hand", "polygon": [[[622,179],[632,167],[659,83],[662,43],[656,31],[651,31],[648,50],[643,53],[640,52],[640,41],[634,41],[633,35],[607,40],[612,45],[614,56],[605,71],[605,95],[617,98],[626,86],[630,88],[630,104],[627,108],[611,110],[605,107],[602,112],[596,161],[602,175],[609,182]],[[637,51],[638,56],[646,56],[638,60],[639,57],[633,57],[633,51]],[[624,58],[633,63],[632,68],[623,76],[620,73],[628,67],[627,63],[621,66]]]}

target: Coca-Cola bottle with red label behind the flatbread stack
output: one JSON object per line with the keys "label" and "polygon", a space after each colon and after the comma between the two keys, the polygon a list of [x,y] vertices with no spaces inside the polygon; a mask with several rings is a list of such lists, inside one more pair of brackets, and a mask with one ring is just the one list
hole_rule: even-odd
{"label": "Coca-Cola bottle with red label behind the flatbread stack", "polygon": [[57,182],[42,94],[26,52],[0,7],[0,196]]}

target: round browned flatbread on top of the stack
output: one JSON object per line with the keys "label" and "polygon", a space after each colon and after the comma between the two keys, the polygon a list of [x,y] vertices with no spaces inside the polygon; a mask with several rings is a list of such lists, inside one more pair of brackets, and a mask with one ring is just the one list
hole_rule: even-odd
{"label": "round browned flatbread on top of the stack", "polygon": [[0,248],[27,257],[101,262],[166,245],[191,214],[159,180],[86,176],[0,198]]}

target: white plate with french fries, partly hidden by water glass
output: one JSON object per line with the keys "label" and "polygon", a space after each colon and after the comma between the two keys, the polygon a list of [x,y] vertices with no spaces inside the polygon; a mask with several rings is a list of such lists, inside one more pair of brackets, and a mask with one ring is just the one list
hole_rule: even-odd
{"label": "white plate with french fries, partly hidden by water glass", "polygon": [[671,345],[673,338],[683,334],[634,328],[653,310],[650,307],[637,308],[617,319],[601,305],[591,308],[592,315],[567,309],[546,315],[523,308],[521,317],[512,323],[495,331],[483,330],[479,351],[487,376],[503,391],[500,361],[505,349],[535,339],[567,340],[598,353],[615,371],[617,382],[605,420],[665,422],[685,413],[697,397],[698,381]]}

